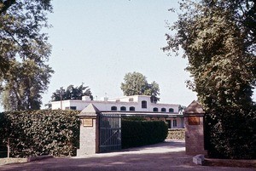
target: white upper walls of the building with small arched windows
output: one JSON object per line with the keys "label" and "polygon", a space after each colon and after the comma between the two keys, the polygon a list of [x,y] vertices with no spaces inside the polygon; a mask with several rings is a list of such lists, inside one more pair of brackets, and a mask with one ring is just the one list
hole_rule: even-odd
{"label": "white upper walls of the building with small arched windows", "polygon": [[146,112],[166,112],[178,113],[177,104],[155,104],[151,103],[148,95],[132,95],[119,98],[104,98],[104,100],[90,100],[84,96],[82,100],[62,100],[53,101],[52,109],[73,109],[82,111],[84,108],[93,104],[100,111],[146,111]]}

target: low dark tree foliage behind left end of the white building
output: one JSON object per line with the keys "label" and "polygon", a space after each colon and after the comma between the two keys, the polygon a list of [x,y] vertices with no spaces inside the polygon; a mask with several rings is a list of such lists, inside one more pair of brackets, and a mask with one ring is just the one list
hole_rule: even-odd
{"label": "low dark tree foliage behind left end of the white building", "polygon": [[90,100],[93,100],[93,96],[91,95],[90,88],[88,86],[84,86],[82,83],[80,86],[74,87],[73,85],[69,85],[67,89],[60,88],[56,89],[55,93],[52,94],[52,101],[60,101],[60,100],[82,100],[82,97],[90,96]]}

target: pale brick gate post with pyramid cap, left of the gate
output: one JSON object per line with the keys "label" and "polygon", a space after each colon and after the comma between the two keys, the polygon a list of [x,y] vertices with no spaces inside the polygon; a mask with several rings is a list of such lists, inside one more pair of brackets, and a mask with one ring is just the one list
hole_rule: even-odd
{"label": "pale brick gate post with pyramid cap, left of the gate", "polygon": [[100,111],[93,104],[79,113],[80,136],[77,156],[99,152],[99,114]]}

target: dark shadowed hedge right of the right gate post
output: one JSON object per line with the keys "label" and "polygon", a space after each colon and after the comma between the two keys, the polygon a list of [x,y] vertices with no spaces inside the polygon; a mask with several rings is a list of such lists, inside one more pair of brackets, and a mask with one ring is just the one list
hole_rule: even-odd
{"label": "dark shadowed hedge right of the right gate post", "polygon": [[229,109],[206,115],[209,157],[256,158],[256,109]]}

